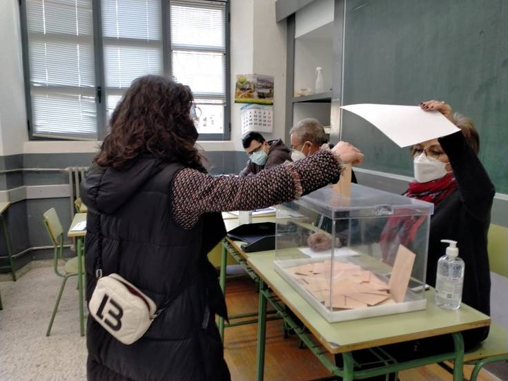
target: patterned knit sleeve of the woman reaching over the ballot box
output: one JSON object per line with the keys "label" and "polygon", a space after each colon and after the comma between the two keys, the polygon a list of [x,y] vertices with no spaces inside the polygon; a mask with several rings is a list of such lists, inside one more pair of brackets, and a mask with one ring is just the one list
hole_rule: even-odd
{"label": "patterned knit sleeve of the woman reaching over the ballot box", "polygon": [[211,176],[184,168],[173,181],[173,218],[192,228],[203,213],[266,208],[337,182],[339,176],[340,161],[326,150],[249,177]]}

